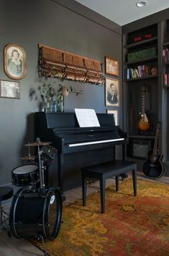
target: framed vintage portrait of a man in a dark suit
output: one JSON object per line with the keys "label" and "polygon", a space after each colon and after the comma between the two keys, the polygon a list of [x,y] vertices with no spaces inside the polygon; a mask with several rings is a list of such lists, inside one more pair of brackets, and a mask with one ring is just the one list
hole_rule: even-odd
{"label": "framed vintage portrait of a man in a dark suit", "polygon": [[119,80],[106,77],[105,104],[106,106],[119,106]]}

